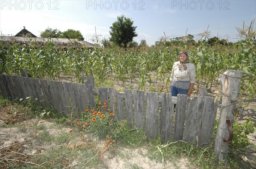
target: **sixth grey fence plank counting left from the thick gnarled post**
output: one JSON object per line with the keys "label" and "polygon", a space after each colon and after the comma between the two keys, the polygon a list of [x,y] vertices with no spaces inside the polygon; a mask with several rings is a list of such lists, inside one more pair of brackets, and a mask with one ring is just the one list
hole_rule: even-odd
{"label": "sixth grey fence plank counting left from the thick gnarled post", "polygon": [[145,95],[144,91],[133,90],[134,94],[134,119],[137,129],[145,127]]}

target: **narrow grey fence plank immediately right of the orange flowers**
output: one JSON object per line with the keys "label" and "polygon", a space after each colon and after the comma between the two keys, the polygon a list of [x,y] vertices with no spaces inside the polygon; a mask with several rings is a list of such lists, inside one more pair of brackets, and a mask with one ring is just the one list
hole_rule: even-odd
{"label": "narrow grey fence plank immediately right of the orange flowers", "polygon": [[117,111],[118,119],[124,120],[126,118],[124,98],[116,90],[115,90],[115,96],[116,96],[116,111]]}

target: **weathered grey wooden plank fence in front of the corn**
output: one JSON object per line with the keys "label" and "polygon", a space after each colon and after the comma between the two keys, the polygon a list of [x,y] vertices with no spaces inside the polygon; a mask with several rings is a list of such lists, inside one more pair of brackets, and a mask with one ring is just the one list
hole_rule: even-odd
{"label": "weathered grey wooden plank fence in front of the corn", "polygon": [[3,74],[0,93],[13,100],[31,97],[43,108],[52,107],[64,115],[96,107],[95,96],[99,96],[102,105],[108,101],[107,109],[115,118],[128,121],[133,129],[145,129],[148,140],[160,135],[163,142],[183,140],[197,145],[212,142],[218,107],[218,100],[210,96],[191,99],[130,89],[119,92],[113,87],[95,90],[91,76],[79,84]]}

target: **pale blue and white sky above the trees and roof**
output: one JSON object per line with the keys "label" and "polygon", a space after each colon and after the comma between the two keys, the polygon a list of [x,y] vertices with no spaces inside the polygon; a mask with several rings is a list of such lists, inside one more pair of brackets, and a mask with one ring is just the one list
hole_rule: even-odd
{"label": "pale blue and white sky above the trees and roof", "polygon": [[0,34],[14,36],[23,26],[38,37],[47,28],[74,29],[92,42],[95,35],[108,39],[122,14],[137,26],[139,44],[186,34],[198,41],[207,29],[210,37],[237,42],[236,28],[256,18],[256,0],[0,0]]}

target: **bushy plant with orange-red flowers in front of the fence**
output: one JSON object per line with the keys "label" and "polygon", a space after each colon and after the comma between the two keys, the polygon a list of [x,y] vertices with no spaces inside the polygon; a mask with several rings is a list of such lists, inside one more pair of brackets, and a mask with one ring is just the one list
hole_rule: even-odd
{"label": "bushy plant with orange-red flowers in front of the fence", "polygon": [[[112,129],[115,126],[114,113],[111,110],[107,110],[107,101],[103,106],[98,103],[98,108],[95,110],[91,107],[87,107],[83,112],[83,119],[85,124],[82,125],[83,130],[91,134],[96,134],[100,137],[106,137],[111,135]],[[103,111],[102,111],[103,108]]]}

